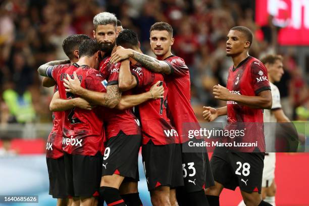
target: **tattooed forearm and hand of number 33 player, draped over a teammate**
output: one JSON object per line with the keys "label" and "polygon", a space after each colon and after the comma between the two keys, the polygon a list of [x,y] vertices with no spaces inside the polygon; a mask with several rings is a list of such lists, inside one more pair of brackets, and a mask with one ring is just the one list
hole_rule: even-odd
{"label": "tattooed forearm and hand of number 33 player, draped over a teammate", "polygon": [[171,73],[171,68],[165,61],[157,60],[156,58],[138,53],[135,50],[129,48],[118,49],[114,54],[112,54],[110,62],[114,64],[121,60],[128,59],[130,57],[152,72],[164,73],[164,74]]}

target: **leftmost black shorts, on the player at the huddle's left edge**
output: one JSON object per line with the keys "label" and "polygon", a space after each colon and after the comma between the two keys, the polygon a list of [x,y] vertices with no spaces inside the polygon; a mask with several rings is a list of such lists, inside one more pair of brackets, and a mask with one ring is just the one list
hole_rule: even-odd
{"label": "leftmost black shorts, on the player at the huddle's left edge", "polygon": [[46,158],[46,164],[49,178],[49,194],[53,195],[53,198],[67,198],[64,157],[58,159]]}

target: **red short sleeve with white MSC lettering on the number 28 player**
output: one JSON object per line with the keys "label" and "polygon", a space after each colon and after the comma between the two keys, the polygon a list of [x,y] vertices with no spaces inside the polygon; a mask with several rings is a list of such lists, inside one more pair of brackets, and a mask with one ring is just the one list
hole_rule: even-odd
{"label": "red short sleeve with white MSC lettering on the number 28 player", "polygon": [[251,83],[255,95],[258,95],[261,91],[271,89],[267,69],[262,62],[254,61],[251,63]]}

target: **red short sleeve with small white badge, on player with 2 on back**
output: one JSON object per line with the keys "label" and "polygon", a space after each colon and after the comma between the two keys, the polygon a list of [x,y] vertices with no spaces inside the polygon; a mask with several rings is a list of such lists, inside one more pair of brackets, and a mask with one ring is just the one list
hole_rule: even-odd
{"label": "red short sleeve with small white badge, on player with 2 on back", "polygon": [[85,78],[86,89],[98,92],[106,92],[106,86],[107,81],[99,71],[90,70],[87,72],[87,76]]}

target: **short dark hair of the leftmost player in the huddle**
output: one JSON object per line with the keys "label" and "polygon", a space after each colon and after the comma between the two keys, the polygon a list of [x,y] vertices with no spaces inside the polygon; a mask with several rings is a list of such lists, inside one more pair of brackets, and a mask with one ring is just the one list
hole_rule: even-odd
{"label": "short dark hair of the leftmost player in the huddle", "polygon": [[74,34],[65,38],[62,48],[70,60],[74,58],[74,50],[78,49],[79,45],[86,39],[91,38],[86,34]]}

